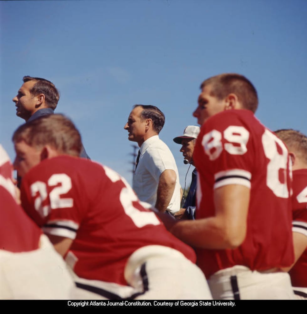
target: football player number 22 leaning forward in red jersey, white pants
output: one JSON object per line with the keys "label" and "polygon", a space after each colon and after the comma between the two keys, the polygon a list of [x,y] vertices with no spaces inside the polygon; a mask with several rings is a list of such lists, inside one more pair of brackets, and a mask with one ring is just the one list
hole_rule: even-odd
{"label": "football player number 22 leaning forward in red jersey, white pants", "polygon": [[13,142],[22,205],[70,266],[84,292],[76,298],[212,298],[193,249],[119,174],[77,157],[81,138],[69,119],[38,118]]}

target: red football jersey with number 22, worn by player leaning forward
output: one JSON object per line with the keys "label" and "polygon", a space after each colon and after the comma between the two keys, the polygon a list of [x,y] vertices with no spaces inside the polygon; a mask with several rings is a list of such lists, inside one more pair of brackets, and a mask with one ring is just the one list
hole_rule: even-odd
{"label": "red football jersey with number 22, worn by player leaning forward", "polygon": [[169,246],[196,261],[193,249],[141,205],[124,178],[93,161],[42,161],[22,179],[21,199],[45,233],[74,240],[66,260],[79,277],[127,284],[127,259],[147,245]]}

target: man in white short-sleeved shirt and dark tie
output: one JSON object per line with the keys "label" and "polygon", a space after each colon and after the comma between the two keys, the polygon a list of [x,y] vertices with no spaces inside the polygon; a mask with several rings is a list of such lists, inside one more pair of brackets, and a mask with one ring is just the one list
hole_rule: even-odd
{"label": "man in white short-sleeved shirt and dark tie", "polygon": [[164,122],[156,106],[135,105],[124,129],[140,147],[133,176],[137,196],[160,212],[174,214],[180,209],[181,188],[175,159],[158,135]]}

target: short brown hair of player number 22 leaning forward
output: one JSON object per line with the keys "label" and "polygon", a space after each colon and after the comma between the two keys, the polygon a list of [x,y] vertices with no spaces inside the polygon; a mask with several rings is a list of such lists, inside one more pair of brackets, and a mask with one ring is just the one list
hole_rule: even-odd
{"label": "short brown hair of player number 22 leaning forward", "polygon": [[61,114],[41,116],[24,123],[14,132],[14,143],[24,141],[31,147],[50,145],[62,154],[79,156],[81,136],[70,119]]}

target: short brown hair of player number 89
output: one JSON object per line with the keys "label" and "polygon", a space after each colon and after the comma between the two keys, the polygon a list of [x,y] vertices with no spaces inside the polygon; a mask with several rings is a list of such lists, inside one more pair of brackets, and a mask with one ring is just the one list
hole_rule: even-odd
{"label": "short brown hair of player number 89", "polygon": [[211,86],[211,96],[222,100],[233,93],[238,97],[244,109],[251,110],[254,113],[256,112],[258,107],[257,90],[243,75],[224,73],[212,76],[204,80],[200,85],[200,89],[208,85]]}

